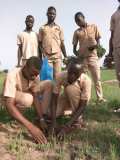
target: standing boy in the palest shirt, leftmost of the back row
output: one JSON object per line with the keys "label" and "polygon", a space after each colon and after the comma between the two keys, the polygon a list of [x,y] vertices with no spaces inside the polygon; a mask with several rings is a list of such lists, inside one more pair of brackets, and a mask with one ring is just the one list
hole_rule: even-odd
{"label": "standing boy in the palest shirt, leftmost of the back row", "polygon": [[38,57],[38,36],[32,30],[34,25],[34,17],[28,15],[25,20],[25,30],[18,34],[18,67],[25,65],[27,59],[32,56]]}

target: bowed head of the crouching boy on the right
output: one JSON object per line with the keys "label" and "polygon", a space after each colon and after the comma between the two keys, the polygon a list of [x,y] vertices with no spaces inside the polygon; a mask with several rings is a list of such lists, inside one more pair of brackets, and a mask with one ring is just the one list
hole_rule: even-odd
{"label": "bowed head of the crouching boy on the right", "polygon": [[80,59],[72,57],[67,66],[68,82],[71,84],[75,82],[84,72],[84,66]]}

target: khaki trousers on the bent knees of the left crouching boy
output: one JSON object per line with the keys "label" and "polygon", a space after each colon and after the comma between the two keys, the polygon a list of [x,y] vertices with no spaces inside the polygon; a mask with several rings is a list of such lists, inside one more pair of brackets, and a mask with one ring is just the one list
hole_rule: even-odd
{"label": "khaki trousers on the bent knees of the left crouching boy", "polygon": [[[36,86],[39,91],[40,106],[47,107],[50,104],[52,96],[52,83],[49,80],[41,81]],[[34,103],[34,98],[31,93],[16,91],[15,102],[17,107],[30,107]],[[46,113],[48,108],[42,108],[43,113]]]}

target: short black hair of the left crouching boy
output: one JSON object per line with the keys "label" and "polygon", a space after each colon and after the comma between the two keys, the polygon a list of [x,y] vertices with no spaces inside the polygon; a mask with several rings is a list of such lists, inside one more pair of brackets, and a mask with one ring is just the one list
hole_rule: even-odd
{"label": "short black hair of the left crouching boy", "polygon": [[27,60],[26,65],[28,67],[34,67],[35,69],[40,70],[42,67],[42,59],[32,56]]}

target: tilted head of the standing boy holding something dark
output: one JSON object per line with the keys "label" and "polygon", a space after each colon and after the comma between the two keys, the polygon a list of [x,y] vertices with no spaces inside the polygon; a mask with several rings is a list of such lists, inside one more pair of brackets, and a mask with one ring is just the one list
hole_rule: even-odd
{"label": "tilted head of the standing boy holding something dark", "polygon": [[85,22],[85,16],[83,15],[82,12],[77,12],[75,14],[75,22],[79,27],[84,27],[86,22]]}

